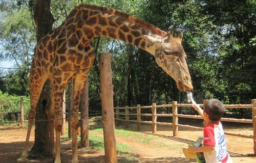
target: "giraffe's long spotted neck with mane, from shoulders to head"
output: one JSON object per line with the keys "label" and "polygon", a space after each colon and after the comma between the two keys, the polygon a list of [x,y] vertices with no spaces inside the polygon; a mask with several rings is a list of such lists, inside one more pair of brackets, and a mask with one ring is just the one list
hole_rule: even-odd
{"label": "giraffe's long spotted neck with mane, from shoulders to head", "polygon": [[68,34],[69,29],[75,28],[76,36],[84,44],[89,44],[94,37],[108,37],[136,45],[148,52],[152,51],[148,49],[143,35],[152,37],[166,35],[155,26],[130,15],[91,5],[76,7],[64,23]]}

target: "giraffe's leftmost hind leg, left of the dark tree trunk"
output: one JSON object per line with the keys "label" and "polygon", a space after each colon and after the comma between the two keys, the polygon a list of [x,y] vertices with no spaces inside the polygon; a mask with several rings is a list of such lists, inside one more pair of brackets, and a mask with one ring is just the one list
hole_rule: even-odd
{"label": "giraffe's leftmost hind leg, left of the dark tree trunk", "polygon": [[30,72],[29,88],[30,88],[30,107],[31,108],[29,110],[29,115],[28,115],[29,125],[27,130],[25,148],[21,156],[22,157],[21,162],[27,162],[29,138],[30,138],[32,124],[35,119],[36,105],[40,97],[42,87],[44,86],[47,78],[48,78],[47,75],[42,73],[41,70],[32,69]]}

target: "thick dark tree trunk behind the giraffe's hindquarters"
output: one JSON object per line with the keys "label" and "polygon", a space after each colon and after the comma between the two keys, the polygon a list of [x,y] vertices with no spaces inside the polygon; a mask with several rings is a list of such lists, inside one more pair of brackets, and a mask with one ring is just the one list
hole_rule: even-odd
{"label": "thick dark tree trunk behind the giraffe's hindquarters", "polygon": [[[54,22],[53,16],[50,11],[51,0],[37,0],[34,10],[34,21],[37,26],[36,40],[39,40],[45,34],[52,30]],[[35,143],[31,149],[31,153],[48,155],[51,153],[50,137],[49,137],[49,123],[47,120],[47,113],[50,108],[50,86],[49,80],[45,83],[42,89],[40,98],[36,108],[36,122],[35,122]]]}

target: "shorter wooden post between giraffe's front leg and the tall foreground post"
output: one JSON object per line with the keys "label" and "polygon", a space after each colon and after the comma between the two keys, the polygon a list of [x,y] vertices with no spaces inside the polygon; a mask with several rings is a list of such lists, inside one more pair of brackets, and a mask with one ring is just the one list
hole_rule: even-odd
{"label": "shorter wooden post between giraffe's front leg and the tall foreground post", "polygon": [[89,147],[89,84],[88,79],[84,85],[81,106],[81,147]]}

